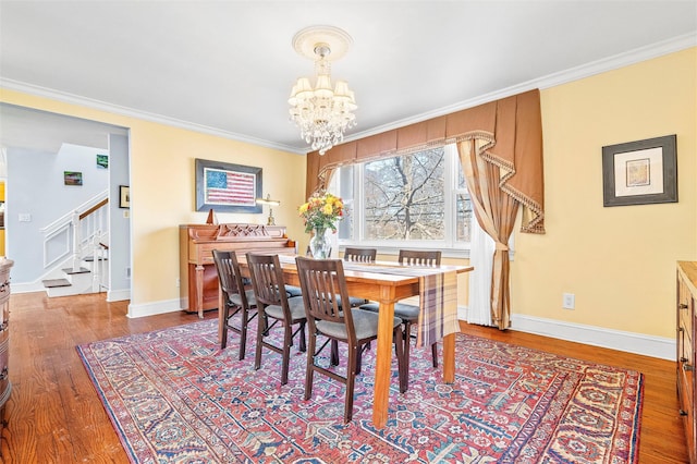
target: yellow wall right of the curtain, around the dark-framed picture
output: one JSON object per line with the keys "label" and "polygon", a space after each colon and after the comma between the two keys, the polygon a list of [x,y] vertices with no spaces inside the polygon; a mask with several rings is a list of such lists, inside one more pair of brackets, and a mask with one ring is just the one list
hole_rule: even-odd
{"label": "yellow wall right of the curtain, around the dark-framed picture", "polygon": [[[696,88],[692,48],[541,93],[547,234],[515,236],[514,314],[675,335],[675,261],[697,259]],[[670,134],[678,203],[604,208],[602,147]]]}

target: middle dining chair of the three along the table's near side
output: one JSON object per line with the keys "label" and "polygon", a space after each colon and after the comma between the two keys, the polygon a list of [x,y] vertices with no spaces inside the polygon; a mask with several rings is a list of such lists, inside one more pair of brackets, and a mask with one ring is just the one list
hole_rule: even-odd
{"label": "middle dining chair of the three along the table's near side", "polygon": [[[252,277],[252,286],[257,301],[259,320],[257,322],[257,350],[254,368],[261,367],[261,349],[267,347],[282,356],[281,384],[288,383],[288,370],[291,362],[293,339],[299,333],[299,351],[307,349],[305,341],[305,305],[303,298],[289,298],[283,281],[283,271],[278,255],[255,255],[247,253],[247,267]],[[269,326],[269,319],[273,322]],[[270,330],[277,323],[283,326],[283,345],[277,346],[267,341]],[[297,326],[295,332],[293,327]]]}

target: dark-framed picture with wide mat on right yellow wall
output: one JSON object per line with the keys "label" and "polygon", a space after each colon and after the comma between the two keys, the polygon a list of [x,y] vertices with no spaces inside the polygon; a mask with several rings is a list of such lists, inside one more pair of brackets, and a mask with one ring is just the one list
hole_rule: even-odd
{"label": "dark-framed picture with wide mat on right yellow wall", "polygon": [[603,206],[677,202],[676,136],[602,147]]}

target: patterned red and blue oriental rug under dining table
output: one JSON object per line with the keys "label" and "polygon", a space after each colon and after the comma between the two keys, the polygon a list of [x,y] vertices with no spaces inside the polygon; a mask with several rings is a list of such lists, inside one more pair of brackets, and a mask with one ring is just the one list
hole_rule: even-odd
{"label": "patterned red and blue oriental rug under dining table", "polygon": [[[374,357],[364,355],[354,419],[343,386],[315,376],[304,353],[280,386],[280,355],[254,370],[217,320],[77,347],[135,463],[634,463],[643,375],[457,334],[455,383],[430,350],[413,351],[409,390],[392,379],[388,426],[371,426]],[[342,359],[345,356],[342,354]],[[396,370],[396,369],[394,369]]]}

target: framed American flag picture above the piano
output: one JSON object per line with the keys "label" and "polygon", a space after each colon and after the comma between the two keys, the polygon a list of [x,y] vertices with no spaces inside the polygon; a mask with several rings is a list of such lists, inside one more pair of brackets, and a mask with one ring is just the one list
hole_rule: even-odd
{"label": "framed American flag picture above the piano", "polygon": [[196,210],[261,212],[261,168],[196,159]]}

